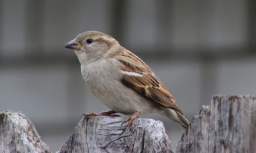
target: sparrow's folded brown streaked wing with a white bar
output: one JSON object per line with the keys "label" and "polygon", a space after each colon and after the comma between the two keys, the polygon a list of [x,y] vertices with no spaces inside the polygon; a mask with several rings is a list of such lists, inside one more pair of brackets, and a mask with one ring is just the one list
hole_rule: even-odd
{"label": "sparrow's folded brown streaked wing with a white bar", "polygon": [[122,83],[146,99],[183,114],[177,107],[172,94],[168,92],[168,89],[148,65],[129,50],[124,49],[123,51],[115,56],[115,59],[121,63]]}

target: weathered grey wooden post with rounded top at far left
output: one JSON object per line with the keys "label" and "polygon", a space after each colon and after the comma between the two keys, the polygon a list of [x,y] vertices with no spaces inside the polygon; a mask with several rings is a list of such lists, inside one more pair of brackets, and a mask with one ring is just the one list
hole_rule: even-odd
{"label": "weathered grey wooden post with rounded top at far left", "polygon": [[33,123],[20,112],[0,112],[0,152],[50,152]]}

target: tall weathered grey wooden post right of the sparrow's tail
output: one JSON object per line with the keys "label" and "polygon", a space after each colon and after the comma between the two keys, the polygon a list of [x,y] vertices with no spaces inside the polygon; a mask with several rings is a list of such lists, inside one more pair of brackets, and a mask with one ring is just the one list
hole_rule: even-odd
{"label": "tall weathered grey wooden post right of the sparrow's tail", "polygon": [[256,152],[256,97],[214,96],[194,116],[176,152]]}

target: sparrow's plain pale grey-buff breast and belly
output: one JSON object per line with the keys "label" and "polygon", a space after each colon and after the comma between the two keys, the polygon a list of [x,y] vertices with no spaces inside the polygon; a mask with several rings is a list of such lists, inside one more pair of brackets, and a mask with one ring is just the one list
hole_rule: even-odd
{"label": "sparrow's plain pale grey-buff breast and belly", "polygon": [[123,114],[153,112],[148,100],[120,82],[123,74],[115,61],[103,60],[81,65],[81,73],[91,92],[111,110]]}

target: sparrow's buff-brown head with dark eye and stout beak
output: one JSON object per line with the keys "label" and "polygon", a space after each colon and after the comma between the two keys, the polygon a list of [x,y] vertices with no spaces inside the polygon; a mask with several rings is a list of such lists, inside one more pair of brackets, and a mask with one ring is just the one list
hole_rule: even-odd
{"label": "sparrow's buff-brown head with dark eye and stout beak", "polygon": [[109,51],[119,44],[114,38],[98,31],[86,31],[65,44],[74,49],[79,61],[97,60],[106,57]]}

